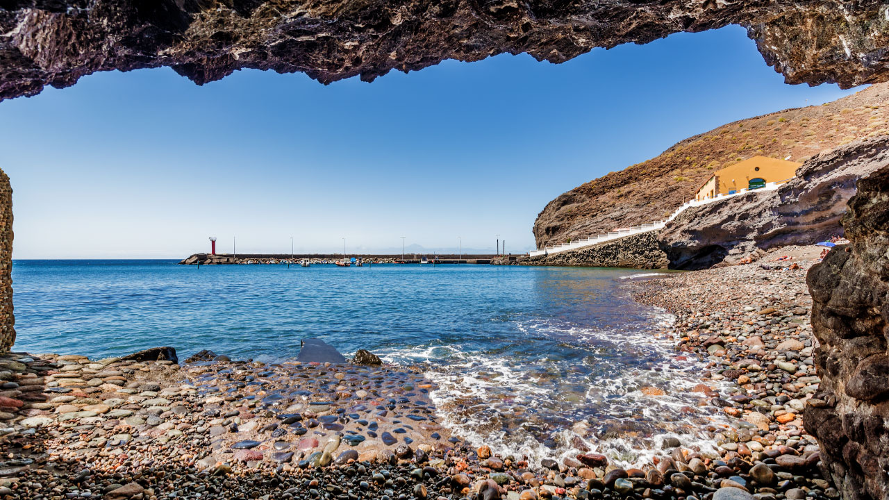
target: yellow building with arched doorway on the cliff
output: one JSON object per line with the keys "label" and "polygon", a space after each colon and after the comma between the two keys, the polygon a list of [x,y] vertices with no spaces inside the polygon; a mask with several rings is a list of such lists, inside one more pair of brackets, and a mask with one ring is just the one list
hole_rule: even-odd
{"label": "yellow building with arched doorway on the cliff", "polygon": [[698,190],[694,199],[730,195],[741,190],[756,190],[766,182],[786,182],[797,174],[801,163],[770,157],[752,157],[717,170]]}

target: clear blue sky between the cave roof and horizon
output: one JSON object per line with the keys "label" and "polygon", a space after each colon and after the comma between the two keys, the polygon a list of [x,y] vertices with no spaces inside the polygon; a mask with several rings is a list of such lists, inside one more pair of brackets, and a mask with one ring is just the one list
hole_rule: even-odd
{"label": "clear blue sky between the cave roof and horizon", "polygon": [[833,101],[784,85],[738,27],[445,61],[366,84],[239,71],[100,73],[0,102],[14,257],[533,248],[549,200],[736,119]]}

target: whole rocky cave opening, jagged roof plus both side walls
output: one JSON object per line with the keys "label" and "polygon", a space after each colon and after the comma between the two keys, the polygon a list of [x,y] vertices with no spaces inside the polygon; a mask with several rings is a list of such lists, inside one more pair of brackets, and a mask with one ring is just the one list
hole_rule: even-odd
{"label": "whole rocky cave opening, jagged roof plus both side walls", "polygon": [[[329,83],[503,52],[562,62],[594,47],[729,24],[747,28],[765,62],[789,84],[889,80],[889,4],[882,0],[4,0],[0,101],[112,69],[169,66],[202,85],[244,68],[301,71]],[[889,428],[889,395],[843,389],[846,380],[885,387],[887,354],[867,352],[875,368],[853,371],[854,356],[840,351],[843,332],[833,332],[857,325],[856,338],[876,337],[889,318],[885,280],[870,279],[886,272],[885,260],[871,257],[886,252],[887,176],[869,181],[850,202],[847,221],[869,230],[853,230],[853,246],[837,248],[810,275],[813,326],[822,342],[817,364],[832,366],[836,354],[834,365],[843,369],[821,372],[820,406],[807,410],[806,425],[821,440],[824,470],[845,498],[889,491],[879,473],[889,456],[882,431]],[[872,310],[881,311],[882,323],[855,322]],[[0,352],[12,348],[14,327],[12,189],[0,170]],[[878,435],[858,431],[865,416]]]}

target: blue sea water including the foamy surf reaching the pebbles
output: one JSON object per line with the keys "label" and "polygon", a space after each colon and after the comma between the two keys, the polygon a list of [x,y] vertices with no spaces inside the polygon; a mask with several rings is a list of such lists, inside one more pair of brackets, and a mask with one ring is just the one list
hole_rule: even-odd
{"label": "blue sea water including the foamy surf reaching the pebbles", "polygon": [[669,315],[629,297],[626,283],[651,271],[15,261],[12,278],[19,351],[172,345],[181,359],[275,362],[317,337],[420,365],[448,426],[517,456],[589,449],[637,464],[718,419],[690,391],[701,362],[656,335]]}

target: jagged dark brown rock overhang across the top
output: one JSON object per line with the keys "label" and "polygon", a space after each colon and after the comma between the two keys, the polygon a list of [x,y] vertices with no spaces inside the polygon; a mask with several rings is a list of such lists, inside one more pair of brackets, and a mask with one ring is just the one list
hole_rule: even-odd
{"label": "jagged dark brown rock overhang across the top", "polygon": [[885,12],[881,0],[7,0],[0,99],[111,69],[170,66],[197,84],[274,69],[327,83],[502,52],[562,62],[729,24],[746,27],[788,83],[850,87],[889,76]]}

